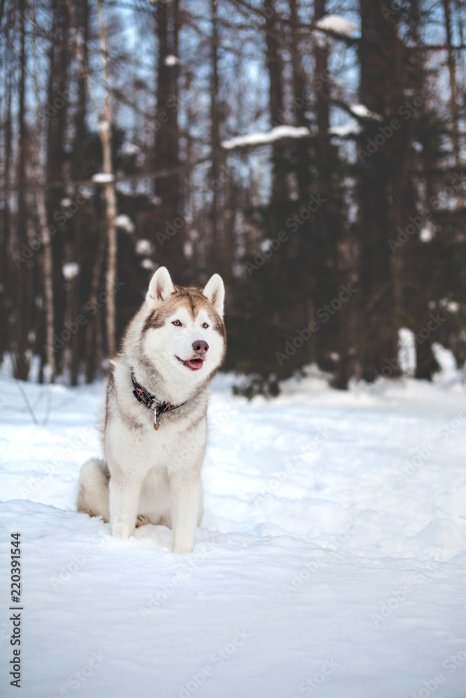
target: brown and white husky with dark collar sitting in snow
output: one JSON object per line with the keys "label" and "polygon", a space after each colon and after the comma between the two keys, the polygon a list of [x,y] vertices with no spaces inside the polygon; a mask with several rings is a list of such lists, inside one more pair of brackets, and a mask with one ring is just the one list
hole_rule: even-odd
{"label": "brown and white husky with dark collar sitting in snow", "polygon": [[106,462],[82,466],[78,511],[110,521],[113,535],[160,523],[173,528],[173,552],[193,549],[207,385],[226,350],[224,295],[218,274],[204,289],[184,288],[160,267],[110,361],[100,425]]}

